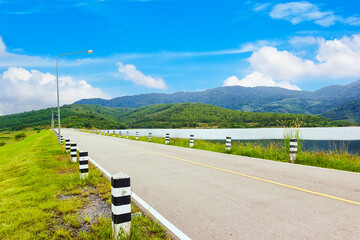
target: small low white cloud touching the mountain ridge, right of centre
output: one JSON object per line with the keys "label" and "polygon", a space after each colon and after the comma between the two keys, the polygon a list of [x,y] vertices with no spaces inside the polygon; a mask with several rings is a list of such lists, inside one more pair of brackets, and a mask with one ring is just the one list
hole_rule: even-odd
{"label": "small low white cloud touching the mountain ridge, right of centre", "polygon": [[281,87],[290,90],[301,90],[298,86],[290,84],[289,82],[277,82],[272,77],[266,76],[261,72],[253,72],[246,75],[243,79],[239,80],[236,76],[231,76],[224,81],[226,86],[242,86],[242,87]]}

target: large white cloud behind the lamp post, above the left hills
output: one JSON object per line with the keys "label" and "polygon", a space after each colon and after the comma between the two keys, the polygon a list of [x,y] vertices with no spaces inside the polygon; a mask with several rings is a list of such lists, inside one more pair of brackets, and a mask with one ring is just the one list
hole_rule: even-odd
{"label": "large white cloud behind the lamp post, above the left hills", "polygon": [[[11,67],[0,75],[0,114],[12,114],[56,106],[56,77],[38,70]],[[60,104],[82,98],[108,98],[85,80],[59,78]]]}

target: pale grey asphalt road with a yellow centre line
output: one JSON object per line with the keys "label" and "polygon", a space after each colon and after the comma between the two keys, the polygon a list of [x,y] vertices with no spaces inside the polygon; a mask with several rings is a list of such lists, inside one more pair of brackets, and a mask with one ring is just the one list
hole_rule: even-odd
{"label": "pale grey asphalt road with a yellow centre line", "polygon": [[192,239],[360,239],[360,174],[62,130]]}

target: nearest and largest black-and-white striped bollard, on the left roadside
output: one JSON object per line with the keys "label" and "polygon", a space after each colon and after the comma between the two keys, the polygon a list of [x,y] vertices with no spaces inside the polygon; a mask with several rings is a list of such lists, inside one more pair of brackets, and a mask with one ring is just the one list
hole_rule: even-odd
{"label": "nearest and largest black-and-white striped bollard, on the left roadside", "polygon": [[113,236],[118,238],[121,229],[130,234],[131,188],[130,177],[123,173],[111,176],[111,218]]}

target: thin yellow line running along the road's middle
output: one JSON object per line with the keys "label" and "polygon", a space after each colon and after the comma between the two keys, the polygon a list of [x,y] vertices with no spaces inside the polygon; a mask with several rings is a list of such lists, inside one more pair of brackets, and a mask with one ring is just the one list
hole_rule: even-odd
{"label": "thin yellow line running along the road's middle", "polygon": [[301,192],[306,192],[306,193],[310,193],[310,194],[314,194],[314,195],[318,195],[318,196],[322,196],[322,197],[326,197],[326,198],[338,200],[338,201],[341,201],[341,202],[351,203],[351,204],[355,204],[355,205],[359,205],[359,206],[360,206],[360,202],[356,202],[356,201],[352,201],[352,200],[348,200],[348,199],[344,199],[344,198],[340,198],[340,197],[335,197],[335,196],[332,196],[332,195],[328,195],[328,194],[324,194],[324,193],[319,193],[319,192],[307,190],[307,189],[304,189],[304,188],[294,187],[294,186],[291,186],[291,185],[287,185],[287,184],[283,184],[283,183],[279,183],[279,182],[267,180],[267,179],[264,179],[264,178],[254,177],[254,176],[250,176],[250,175],[247,175],[247,174],[243,174],[243,173],[238,173],[238,172],[234,172],[234,171],[231,171],[231,170],[227,170],[227,169],[224,169],[224,168],[214,167],[214,166],[211,166],[211,165],[207,165],[207,164],[203,164],[203,163],[199,163],[199,162],[194,162],[194,161],[191,161],[191,160],[186,160],[186,159],[182,159],[182,158],[170,156],[170,155],[167,155],[167,154],[164,154],[164,153],[159,153],[159,152],[154,152],[154,151],[146,150],[146,149],[143,149],[143,148],[133,147],[133,146],[129,146],[129,145],[127,145],[127,144],[119,143],[119,142],[108,141],[108,140],[105,140],[105,139],[104,139],[104,141],[111,142],[111,143],[116,143],[116,144],[120,144],[120,145],[122,145],[122,146],[125,146],[125,147],[128,147],[128,148],[132,148],[132,149],[137,149],[137,150],[140,150],[140,151],[143,151],[143,152],[153,153],[153,154],[156,154],[156,155],[160,155],[160,156],[164,156],[164,157],[176,159],[176,160],[179,160],[179,161],[182,161],[182,162],[187,162],[187,163],[191,163],[191,164],[194,164],[194,165],[198,165],[198,166],[202,166],[202,167],[207,167],[207,168],[219,170],[219,171],[222,171],[222,172],[227,172],[227,173],[235,174],[235,175],[238,175],[238,176],[242,176],[242,177],[246,177],[246,178],[258,180],[258,181],[261,181],[261,182],[266,182],[266,183],[270,183],[270,184],[282,186],[282,187],[285,187],[285,188],[290,188],[290,189],[298,190],[298,191],[301,191]]}

